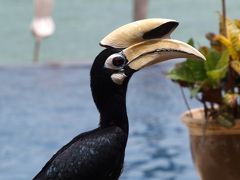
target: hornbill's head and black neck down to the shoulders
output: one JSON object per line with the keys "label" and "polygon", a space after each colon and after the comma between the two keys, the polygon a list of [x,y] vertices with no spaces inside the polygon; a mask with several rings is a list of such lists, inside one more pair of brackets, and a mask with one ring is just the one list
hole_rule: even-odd
{"label": "hornbill's head and black neck down to the shoulders", "polygon": [[169,19],[140,20],[114,30],[100,42],[106,49],[92,65],[91,88],[101,126],[115,124],[128,132],[126,91],[135,72],[174,58],[205,59],[192,46],[170,38],[177,25]]}

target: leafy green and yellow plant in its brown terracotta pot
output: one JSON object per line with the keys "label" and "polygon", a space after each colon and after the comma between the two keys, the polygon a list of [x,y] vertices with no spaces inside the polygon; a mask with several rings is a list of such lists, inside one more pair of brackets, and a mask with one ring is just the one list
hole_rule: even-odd
{"label": "leafy green and yellow plant in its brown terracotta pot", "polygon": [[210,46],[199,47],[206,61],[186,59],[168,73],[203,104],[182,116],[202,180],[240,179],[240,20],[226,18],[222,2],[219,33],[208,33]]}

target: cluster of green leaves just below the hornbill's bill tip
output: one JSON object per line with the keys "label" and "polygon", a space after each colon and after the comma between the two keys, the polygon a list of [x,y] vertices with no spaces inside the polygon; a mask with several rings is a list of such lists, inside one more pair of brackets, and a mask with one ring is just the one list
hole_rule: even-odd
{"label": "cluster of green leaves just below the hornbill's bill tip", "polygon": [[176,81],[184,81],[194,84],[197,89],[192,90],[192,96],[205,85],[218,87],[228,70],[229,53],[218,53],[214,49],[209,50],[206,61],[187,59],[179,63],[170,71],[168,77]]}

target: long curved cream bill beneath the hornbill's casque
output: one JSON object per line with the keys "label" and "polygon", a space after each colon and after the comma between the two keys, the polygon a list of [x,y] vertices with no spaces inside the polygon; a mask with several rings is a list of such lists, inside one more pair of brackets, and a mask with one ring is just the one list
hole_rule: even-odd
{"label": "long curved cream bill beneath the hornbill's casque", "polygon": [[174,58],[205,57],[192,46],[174,39],[152,39],[130,46],[122,51],[127,65],[133,70],[139,70],[162,61]]}

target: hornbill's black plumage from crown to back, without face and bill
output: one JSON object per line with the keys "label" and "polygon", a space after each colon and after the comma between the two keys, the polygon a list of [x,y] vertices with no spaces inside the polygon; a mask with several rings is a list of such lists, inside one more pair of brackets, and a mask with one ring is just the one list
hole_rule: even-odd
{"label": "hornbill's black plumage from crown to back, without face and bill", "polygon": [[115,52],[101,52],[91,69],[99,128],[80,134],[63,146],[33,180],[117,180],[121,175],[128,138],[128,79],[123,85],[116,85],[110,78],[113,72],[104,68],[106,59]]}

